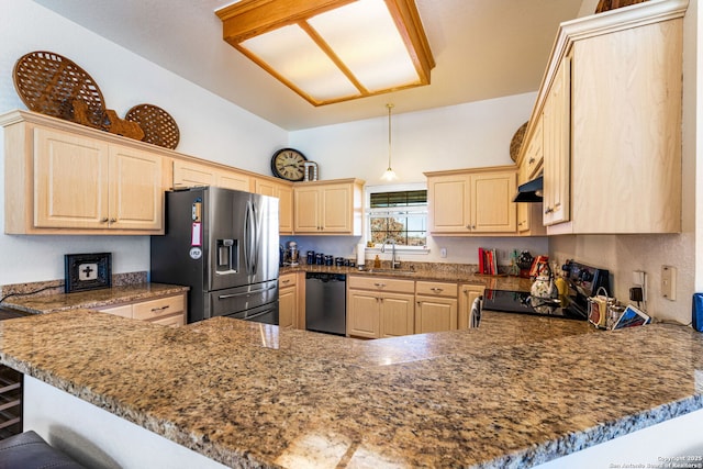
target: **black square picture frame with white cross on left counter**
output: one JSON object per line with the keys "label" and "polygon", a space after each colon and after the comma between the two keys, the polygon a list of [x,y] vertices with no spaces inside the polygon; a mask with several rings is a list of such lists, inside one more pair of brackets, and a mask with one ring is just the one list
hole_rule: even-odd
{"label": "black square picture frame with white cross on left counter", "polygon": [[64,291],[97,290],[112,286],[112,253],[64,255]]}

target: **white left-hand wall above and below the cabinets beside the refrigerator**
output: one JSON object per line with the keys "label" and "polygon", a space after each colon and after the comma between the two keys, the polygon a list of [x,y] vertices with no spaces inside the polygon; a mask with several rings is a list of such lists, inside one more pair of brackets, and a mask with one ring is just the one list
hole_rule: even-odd
{"label": "white left-hand wall above and below the cabinets beside the refrigerator", "polygon": [[[16,60],[32,51],[51,51],[83,68],[100,87],[107,108],[119,115],[140,103],[165,109],[180,130],[178,152],[269,174],[270,155],[287,144],[282,129],[30,0],[0,2],[0,112],[26,109],[12,82]],[[0,155],[4,181],[3,149]],[[4,190],[0,219],[4,220]],[[60,279],[66,253],[111,252],[114,272],[148,270],[148,236],[0,234],[0,284]]]}

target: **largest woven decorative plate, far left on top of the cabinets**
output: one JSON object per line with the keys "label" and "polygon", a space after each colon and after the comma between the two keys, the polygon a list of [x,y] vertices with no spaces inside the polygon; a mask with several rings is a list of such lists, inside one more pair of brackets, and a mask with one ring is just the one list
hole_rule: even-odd
{"label": "largest woven decorative plate, far left on top of the cabinets", "polygon": [[16,62],[12,78],[30,110],[102,129],[105,104],[100,88],[72,60],[53,52],[31,52]]}

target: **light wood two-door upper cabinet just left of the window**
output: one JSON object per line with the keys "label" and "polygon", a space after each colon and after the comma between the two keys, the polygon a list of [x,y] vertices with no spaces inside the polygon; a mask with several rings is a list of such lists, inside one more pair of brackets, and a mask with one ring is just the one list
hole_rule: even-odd
{"label": "light wood two-door upper cabinet just left of the window", "polygon": [[293,198],[295,234],[361,235],[364,181],[297,182]]}

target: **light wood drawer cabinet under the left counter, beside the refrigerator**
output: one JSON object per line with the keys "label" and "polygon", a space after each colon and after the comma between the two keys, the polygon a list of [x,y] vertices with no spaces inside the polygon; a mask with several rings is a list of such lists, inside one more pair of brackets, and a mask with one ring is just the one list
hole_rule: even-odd
{"label": "light wood drawer cabinet under the left counter, beside the refrigerator", "polygon": [[110,308],[100,308],[98,311],[140,321],[148,321],[155,324],[182,326],[188,322],[186,294],[187,293],[178,293],[154,300],[118,304]]}

